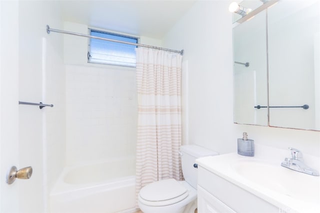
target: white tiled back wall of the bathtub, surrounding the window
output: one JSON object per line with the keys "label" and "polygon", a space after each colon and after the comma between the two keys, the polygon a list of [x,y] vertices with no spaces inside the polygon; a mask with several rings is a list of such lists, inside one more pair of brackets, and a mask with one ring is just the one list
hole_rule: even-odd
{"label": "white tiled back wall of the bathtub, surrounding the window", "polygon": [[[67,31],[87,34],[87,28],[64,22]],[[140,42],[161,41],[141,36]],[[87,63],[87,43],[87,38],[64,35],[67,165],[135,156],[135,68]]]}

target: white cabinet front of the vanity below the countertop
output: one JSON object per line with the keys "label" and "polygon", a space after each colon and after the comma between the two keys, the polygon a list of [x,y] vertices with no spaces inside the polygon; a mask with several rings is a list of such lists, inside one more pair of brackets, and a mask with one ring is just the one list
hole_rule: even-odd
{"label": "white cabinet front of the vanity below the countertop", "polygon": [[198,165],[198,213],[285,213]]}

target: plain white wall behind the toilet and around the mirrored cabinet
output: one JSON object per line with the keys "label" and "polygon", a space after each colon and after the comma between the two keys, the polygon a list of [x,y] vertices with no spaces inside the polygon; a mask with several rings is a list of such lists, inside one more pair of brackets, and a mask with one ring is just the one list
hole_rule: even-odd
{"label": "plain white wall behind the toilet and around the mirrored cabinet", "polygon": [[320,132],[233,124],[229,3],[197,1],[163,40],[165,47],[183,48],[188,61],[189,80],[183,82],[188,84],[188,123],[182,127],[188,129],[188,142],[219,153],[236,152],[236,139],[245,131],[255,143],[320,156]]}

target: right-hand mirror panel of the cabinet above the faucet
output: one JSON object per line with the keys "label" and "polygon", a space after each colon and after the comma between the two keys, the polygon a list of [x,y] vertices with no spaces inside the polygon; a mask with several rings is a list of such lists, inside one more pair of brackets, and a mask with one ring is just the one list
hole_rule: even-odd
{"label": "right-hand mirror panel of the cabinet above the faucet", "polygon": [[270,126],[320,130],[319,11],[318,0],[279,1],[267,11]]}

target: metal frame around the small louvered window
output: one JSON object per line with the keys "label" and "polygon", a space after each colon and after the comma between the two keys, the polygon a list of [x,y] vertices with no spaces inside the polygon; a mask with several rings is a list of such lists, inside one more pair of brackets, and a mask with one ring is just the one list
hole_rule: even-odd
{"label": "metal frame around the small louvered window", "polygon": [[[119,37],[136,39],[137,44],[139,44],[139,42],[140,42],[140,38],[138,36],[135,36],[135,35],[118,33],[118,32],[114,32],[114,31],[106,31],[106,30],[101,30],[101,29],[88,28],[88,34],[89,35],[91,35],[91,31],[99,32],[99,33],[105,33],[105,34],[109,34],[109,35],[115,35],[115,36],[119,36]],[[87,63],[105,64],[105,65],[123,66],[123,67],[136,67],[136,63],[134,65],[127,65],[127,64],[124,64],[125,62],[123,62],[123,64],[115,64],[115,63],[91,61],[90,60],[90,58],[91,58],[91,39],[92,38],[88,39]],[[113,40],[116,40],[116,39],[113,39]],[[138,46],[136,45],[135,47],[138,47]],[[118,61],[118,62],[121,63],[121,61]]]}

